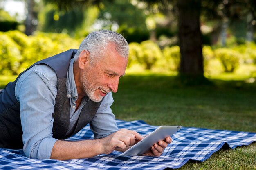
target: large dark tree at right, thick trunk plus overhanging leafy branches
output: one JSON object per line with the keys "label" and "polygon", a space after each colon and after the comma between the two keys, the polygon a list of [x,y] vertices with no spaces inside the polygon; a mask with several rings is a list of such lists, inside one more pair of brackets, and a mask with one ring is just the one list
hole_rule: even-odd
{"label": "large dark tree at right, thick trunk plus overhanging leafy branches", "polygon": [[[205,20],[210,19],[222,22],[227,18],[232,21],[250,14],[252,16],[250,16],[248,23],[256,24],[255,0],[141,1],[150,5],[157,4],[160,10],[169,10],[178,16],[178,39],[181,52],[180,75],[190,78],[204,77],[200,16],[203,15]],[[172,4],[172,9],[168,9],[170,7],[169,4]],[[252,30],[252,28],[250,29]]]}

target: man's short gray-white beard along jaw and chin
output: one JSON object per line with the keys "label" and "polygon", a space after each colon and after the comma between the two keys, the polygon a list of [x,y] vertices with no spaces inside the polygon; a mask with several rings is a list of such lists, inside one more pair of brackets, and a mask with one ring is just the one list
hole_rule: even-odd
{"label": "man's short gray-white beard along jaw and chin", "polygon": [[85,94],[94,102],[100,102],[102,100],[102,96],[98,95],[95,96],[95,91],[99,88],[97,87],[92,87],[91,84],[88,83],[88,78],[86,77],[85,74],[82,75],[82,82],[83,82],[83,90]]}

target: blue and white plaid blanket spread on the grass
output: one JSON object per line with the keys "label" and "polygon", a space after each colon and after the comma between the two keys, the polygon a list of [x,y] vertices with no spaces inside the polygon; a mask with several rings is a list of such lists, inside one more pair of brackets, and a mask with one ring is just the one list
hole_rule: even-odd
{"label": "blue and white plaid blanket spread on the grass", "polygon": [[[150,126],[143,121],[125,122],[117,120],[117,126],[138,131],[141,135],[149,134],[157,126]],[[92,139],[93,134],[89,126],[85,126],[79,133],[69,138],[76,141]],[[224,144],[230,148],[249,145],[256,141],[256,133],[239,131],[221,131],[194,127],[182,127],[172,136],[173,142],[164,150],[161,157],[119,156],[114,151],[110,155],[99,155],[87,159],[72,159],[58,161],[54,159],[36,160],[25,157],[23,151],[0,148],[0,169],[90,169],[90,170],[133,170],[164,168],[180,168],[190,159],[204,161]]]}

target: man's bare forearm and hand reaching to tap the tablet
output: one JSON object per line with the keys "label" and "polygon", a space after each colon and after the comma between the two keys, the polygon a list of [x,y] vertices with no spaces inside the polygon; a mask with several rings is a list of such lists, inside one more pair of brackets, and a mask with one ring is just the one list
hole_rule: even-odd
{"label": "man's bare forearm and hand reaching to tap the tablet", "polygon": [[121,129],[111,135],[96,140],[62,141],[57,140],[52,148],[51,159],[67,160],[109,154],[113,150],[126,151],[129,146],[144,137],[135,131]]}

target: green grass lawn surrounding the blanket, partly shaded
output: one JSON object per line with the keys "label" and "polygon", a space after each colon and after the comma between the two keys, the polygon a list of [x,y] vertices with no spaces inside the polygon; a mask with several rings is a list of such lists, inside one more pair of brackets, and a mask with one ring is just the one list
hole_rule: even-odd
{"label": "green grass lawn surrounding the blanket, partly shaded", "polygon": [[[256,83],[225,77],[230,75],[209,79],[211,85],[186,86],[175,74],[128,73],[113,94],[112,111],[117,119],[151,125],[256,132]],[[0,88],[14,78],[0,76]],[[207,161],[189,161],[180,169],[256,169],[256,142],[222,149]]]}

